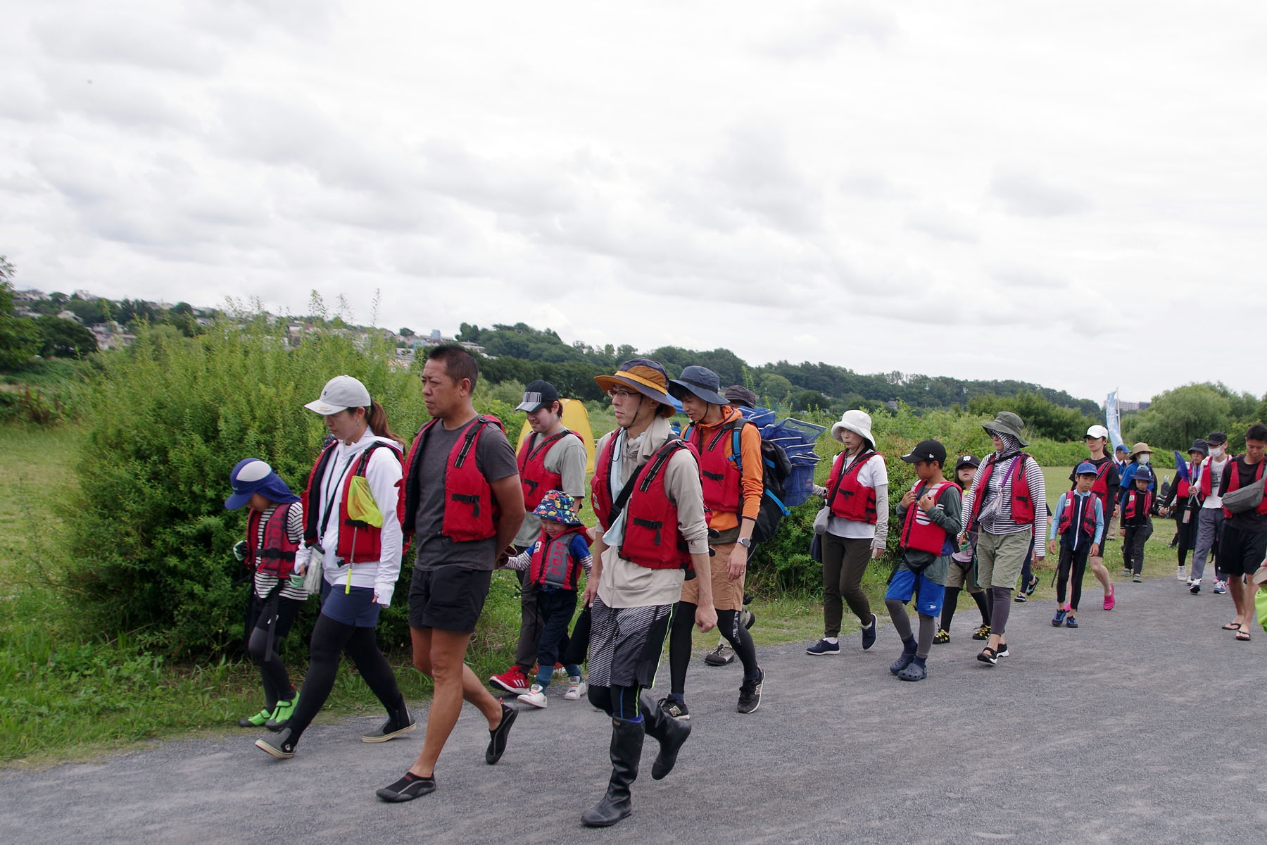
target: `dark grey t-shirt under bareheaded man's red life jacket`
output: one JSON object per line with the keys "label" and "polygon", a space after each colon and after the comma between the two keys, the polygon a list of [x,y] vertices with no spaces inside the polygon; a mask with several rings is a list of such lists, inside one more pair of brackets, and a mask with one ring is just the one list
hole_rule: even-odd
{"label": "dark grey t-shirt under bareheaded man's red life jacket", "polygon": [[[414,519],[418,546],[414,566],[461,566],[490,570],[497,562],[497,538],[452,542],[441,531],[445,519],[445,469],[454,443],[474,426],[475,421],[449,431],[437,423],[427,432],[418,456],[418,511]],[[485,426],[475,442],[475,466],[489,480],[500,481],[519,471],[514,448],[497,426]]]}

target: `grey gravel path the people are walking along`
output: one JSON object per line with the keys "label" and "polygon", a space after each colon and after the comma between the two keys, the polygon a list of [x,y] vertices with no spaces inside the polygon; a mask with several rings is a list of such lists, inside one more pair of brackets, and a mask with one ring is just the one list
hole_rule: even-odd
{"label": "grey gravel path the people are walking along", "polygon": [[[1088,579],[1090,581],[1090,579]],[[1267,830],[1267,633],[1234,642],[1228,595],[1173,578],[1119,583],[1117,608],[1088,589],[1078,630],[1054,602],[1014,606],[1012,656],[988,668],[974,609],[935,645],[929,679],[889,675],[892,627],[837,658],[805,644],[760,650],[760,709],[735,712],[737,663],[694,659],[693,734],[677,770],[650,778],[634,815],[579,823],[609,773],[609,723],[550,689],[521,713],[502,763],[466,707],[438,791],[385,804],[376,787],[417,754],[422,730],[359,741],[381,717],[310,728],[293,760],[256,736],[166,742],[101,763],[0,773],[5,842],[1229,842]],[[661,683],[666,682],[664,668]],[[424,722],[426,712],[417,713]]]}

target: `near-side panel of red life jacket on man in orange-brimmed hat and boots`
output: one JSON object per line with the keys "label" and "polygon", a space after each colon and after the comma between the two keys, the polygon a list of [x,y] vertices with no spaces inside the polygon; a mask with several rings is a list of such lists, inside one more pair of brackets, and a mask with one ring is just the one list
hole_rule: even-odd
{"label": "near-side panel of red life jacket on man in orange-brimmed hat and boots", "polygon": [[625,538],[621,541],[620,555],[639,566],[691,569],[691,552],[678,530],[678,505],[664,490],[664,467],[683,448],[698,461],[691,443],[670,440],[642,465],[628,504],[625,505]]}

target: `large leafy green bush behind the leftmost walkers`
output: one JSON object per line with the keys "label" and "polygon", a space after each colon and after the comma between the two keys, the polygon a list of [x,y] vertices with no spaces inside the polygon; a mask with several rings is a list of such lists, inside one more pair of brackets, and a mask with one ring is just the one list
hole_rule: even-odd
{"label": "large leafy green bush behind the leftmost walkers", "polygon": [[[133,347],[104,357],[76,466],[82,493],[67,511],[82,611],[94,630],[134,631],[169,655],[215,654],[241,637],[248,588],[234,583],[243,573],[229,550],[246,513],[224,509],[239,459],[269,461],[299,492],[326,435],[303,405],[343,372],[405,440],[427,418],[417,378],[394,369],[389,350],[338,333],[291,350],[262,317],[196,338],[142,328]],[[408,641],[403,606],[402,587],[386,645]]]}

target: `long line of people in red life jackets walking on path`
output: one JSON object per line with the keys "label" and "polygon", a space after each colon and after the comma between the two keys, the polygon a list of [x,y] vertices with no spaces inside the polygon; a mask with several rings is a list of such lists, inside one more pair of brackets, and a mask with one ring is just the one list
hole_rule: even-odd
{"label": "long line of people in red life jackets walking on path", "polygon": [[[519,709],[490,694],[465,656],[493,573],[507,568],[521,581],[519,639],[514,664],[489,683],[527,707],[545,708],[559,666],[568,677],[564,701],[585,698],[607,713],[612,773],[606,793],[582,821],[612,825],[631,812],[645,737],[656,744],[651,777],[659,780],[673,770],[691,735],[685,680],[692,627],[720,628],[742,664],[736,709],[751,713],[760,706],[765,673],[742,618],[765,461],[760,433],[740,405],[755,397],[739,385],[722,390],[706,367],[689,366],[669,379],[653,360],[626,361],[595,379],[611,398],[617,427],[598,441],[587,485],[585,443],[563,424],[555,388],[545,381],[527,386],[518,409],[526,412],[531,435],[516,452],[502,423],[471,404],[478,376],[478,362],[465,348],[431,351],[422,374],[431,419],[408,455],[383,407],[359,380],[331,379],[305,405],[323,417],[329,438],[303,497],[262,460],[248,457],[233,469],[226,507],[250,508],[247,536],[236,551],[253,571],[247,647],[260,666],[265,698],[262,709],[241,723],[269,731],[255,742],[261,750],[279,759],[294,756],[346,652],[386,715],[362,741],[383,742],[416,727],[375,640],[408,546],[414,556],[407,595],[413,666],[432,679],[433,694],[421,753],[376,794],[404,802],[436,789],[436,765],[464,701],[487,721],[485,763],[498,763]],[[675,400],[691,421],[680,435],[669,421]],[[889,497],[870,424],[865,413],[849,410],[831,428],[844,451],[826,486],[817,488],[824,498],[815,526],[824,565],[824,636],[807,649],[810,655],[840,654],[845,604],[863,627],[863,649],[877,641],[878,618],[862,578],[884,551]],[[1090,457],[1074,469],[1048,532],[1043,470],[1024,451],[1021,419],[1003,412],[983,427],[995,451],[983,459],[958,457],[950,478],[946,448],[935,440],[902,456],[917,480],[895,508],[901,556],[884,595],[902,640],[891,666],[895,675],[926,678],[930,647],[949,642],[964,589],[982,617],[973,635],[984,641],[977,659],[995,665],[1009,656],[1007,616],[1017,579],[1028,560],[1041,560],[1049,549],[1060,561],[1060,609],[1053,625],[1077,627],[1088,561],[1105,588],[1105,608],[1111,608],[1102,549],[1106,526],[1119,511],[1140,554],[1147,533],[1135,517],[1161,508],[1191,512],[1181,519],[1195,526],[1185,535],[1195,540],[1180,543],[1181,573],[1187,545],[1195,546],[1190,585],[1199,592],[1197,560],[1204,566],[1205,555],[1218,547],[1219,571],[1237,599],[1237,636],[1249,637],[1253,608],[1243,604],[1252,590],[1238,576],[1257,570],[1263,557],[1267,503],[1248,516],[1224,518],[1207,519],[1205,509],[1211,499],[1214,509],[1216,497],[1262,479],[1267,428],[1251,428],[1247,455],[1237,459],[1215,454],[1214,435],[1199,441],[1205,451],[1200,464],[1194,454],[1188,485],[1158,503],[1149,486],[1147,446],[1136,450],[1128,484],[1128,470],[1105,454],[1107,432],[1092,427]],[[1216,456],[1221,460],[1215,469]],[[593,528],[579,517],[587,502],[597,518]],[[1202,550],[1207,533],[1210,545]],[[1029,575],[1015,598],[1026,587],[1033,593]],[[317,592],[321,613],[308,673],[296,689],[277,644]],[[569,632],[578,603],[584,609]],[[917,626],[906,613],[907,603],[915,607]],[[656,698],[650,690],[665,640],[670,687]]]}

